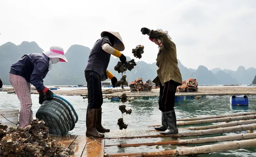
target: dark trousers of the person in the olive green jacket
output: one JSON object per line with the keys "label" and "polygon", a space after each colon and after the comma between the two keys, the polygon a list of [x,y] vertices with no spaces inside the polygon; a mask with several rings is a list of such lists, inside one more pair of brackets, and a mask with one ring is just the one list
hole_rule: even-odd
{"label": "dark trousers of the person in the olive green jacket", "polygon": [[180,83],[170,80],[160,84],[159,110],[162,112],[174,111],[176,88]]}

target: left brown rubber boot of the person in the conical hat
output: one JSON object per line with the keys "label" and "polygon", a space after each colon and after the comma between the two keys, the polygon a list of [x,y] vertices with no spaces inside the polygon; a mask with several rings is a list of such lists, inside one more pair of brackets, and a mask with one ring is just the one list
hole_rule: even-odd
{"label": "left brown rubber boot of the person in the conical hat", "polygon": [[86,113],[86,136],[87,137],[96,137],[96,138],[103,138],[104,134],[101,134],[96,130],[96,109],[87,108]]}

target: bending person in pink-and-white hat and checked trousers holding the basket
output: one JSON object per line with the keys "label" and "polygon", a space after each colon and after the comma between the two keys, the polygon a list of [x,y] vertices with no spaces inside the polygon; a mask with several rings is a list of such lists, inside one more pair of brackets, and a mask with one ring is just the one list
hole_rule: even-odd
{"label": "bending person in pink-and-white hat and checked trousers holding the basket", "polygon": [[53,92],[44,86],[43,79],[52,69],[52,64],[58,62],[67,62],[67,59],[61,47],[52,46],[42,53],[24,55],[11,65],[9,81],[20,100],[20,127],[28,126],[33,120],[30,83],[39,93],[40,104],[45,97],[47,100],[53,99]]}

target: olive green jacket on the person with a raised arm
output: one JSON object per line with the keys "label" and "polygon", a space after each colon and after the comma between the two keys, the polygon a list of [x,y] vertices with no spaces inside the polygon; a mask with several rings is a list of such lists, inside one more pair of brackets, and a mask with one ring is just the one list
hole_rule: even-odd
{"label": "olive green jacket on the person with a raised arm", "polygon": [[161,82],[162,86],[164,85],[164,82],[170,80],[182,84],[182,75],[178,68],[176,45],[174,42],[172,42],[162,31],[151,30],[148,35],[150,38],[156,38],[162,41],[162,46],[160,47],[156,58],[156,65],[158,67],[157,77],[153,82],[158,85],[160,85]]}

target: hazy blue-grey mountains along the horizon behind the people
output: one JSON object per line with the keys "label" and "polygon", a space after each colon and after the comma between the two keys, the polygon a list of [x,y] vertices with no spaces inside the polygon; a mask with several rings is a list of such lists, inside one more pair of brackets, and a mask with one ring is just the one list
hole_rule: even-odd
{"label": "hazy blue-grey mountains along the horizon behind the people", "polygon": [[[7,42],[0,46],[0,75],[4,85],[10,85],[8,71],[12,63],[16,62],[24,54],[40,53],[42,49],[36,42],[24,41],[20,45]],[[53,69],[49,71],[44,83],[47,85],[86,85],[84,77],[84,69],[87,64],[90,49],[83,45],[74,44],[69,47],[66,53],[68,63],[54,64]],[[127,57],[127,60],[130,60]],[[118,74],[114,67],[119,58],[111,57],[108,69],[118,78]],[[200,65],[197,69],[189,69],[182,65],[178,60],[178,66],[182,73],[182,80],[196,78],[199,85],[215,84],[215,85],[239,85],[239,84],[256,84],[256,69],[245,69],[239,66],[236,71],[229,69],[215,68],[207,69]],[[142,77],[143,81],[155,78],[157,66],[155,63],[148,64],[143,61],[137,62],[137,66],[132,71],[128,71],[128,82],[135,81],[136,78]],[[106,80],[110,81],[110,80]]]}

